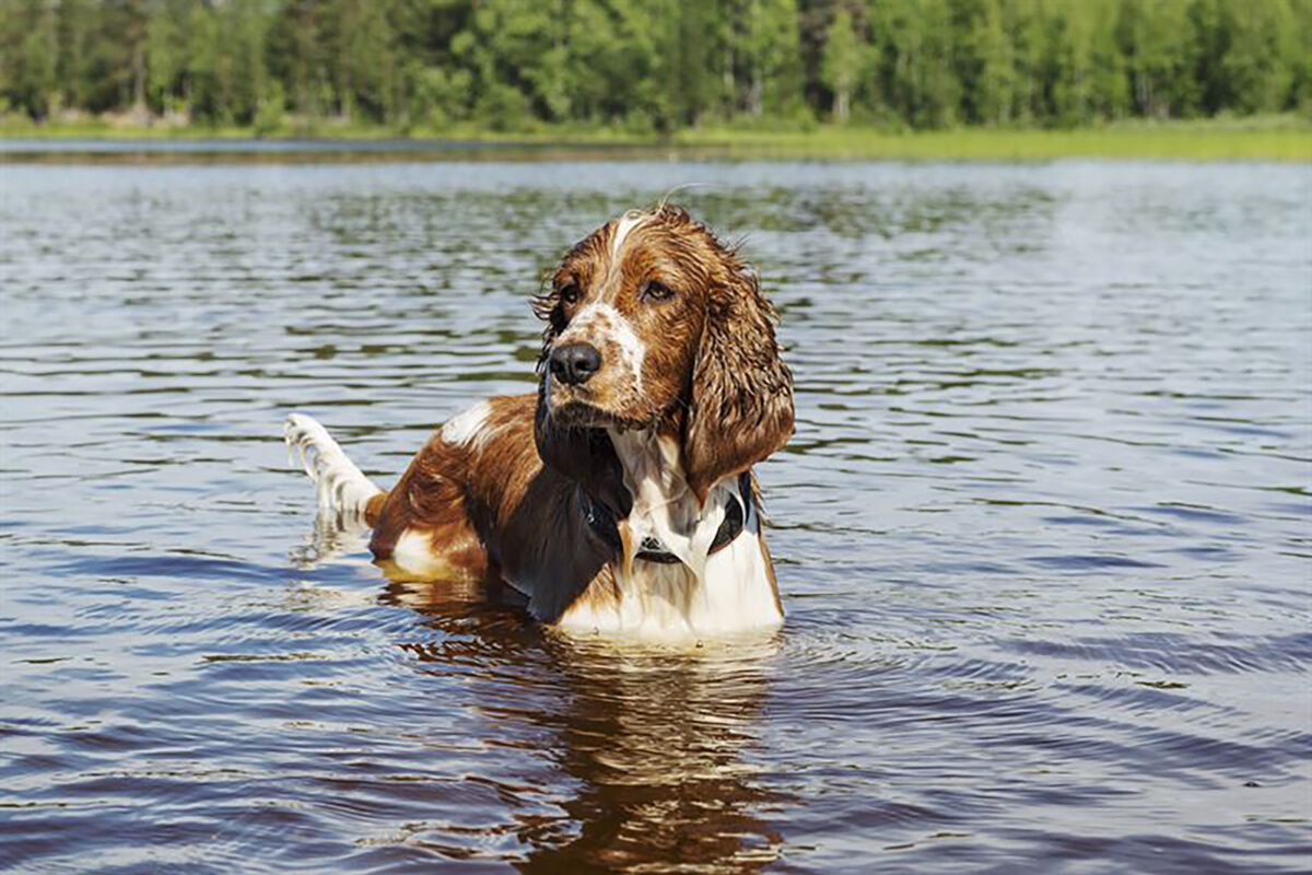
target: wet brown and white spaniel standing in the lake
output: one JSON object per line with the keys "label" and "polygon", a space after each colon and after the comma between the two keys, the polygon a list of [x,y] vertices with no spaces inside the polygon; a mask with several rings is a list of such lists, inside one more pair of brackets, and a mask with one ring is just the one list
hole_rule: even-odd
{"label": "wet brown and white spaniel standing in the lake", "polygon": [[778,626],[750,468],[792,434],[792,376],[754,272],[684,210],[634,210],[565,254],[534,312],[537,395],[450,420],[390,491],[291,415],[320,512],[362,517],[404,575],[504,581],[571,632]]}

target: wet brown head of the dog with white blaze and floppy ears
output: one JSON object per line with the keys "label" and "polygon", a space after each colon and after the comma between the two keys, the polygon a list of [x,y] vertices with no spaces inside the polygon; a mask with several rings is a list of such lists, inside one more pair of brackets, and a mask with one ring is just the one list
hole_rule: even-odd
{"label": "wet brown head of the dog with white blaze and floppy ears", "polygon": [[597,228],[534,311],[547,321],[538,449],[567,475],[594,464],[602,429],[652,428],[677,436],[701,501],[792,434],[792,376],[756,273],[681,209]]}

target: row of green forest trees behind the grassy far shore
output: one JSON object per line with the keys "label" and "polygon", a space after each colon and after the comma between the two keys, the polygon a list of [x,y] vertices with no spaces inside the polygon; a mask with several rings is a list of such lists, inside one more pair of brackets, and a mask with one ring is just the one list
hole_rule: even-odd
{"label": "row of green forest trees behind the grassy far shore", "polygon": [[0,112],[1077,126],[1312,108],[1312,0],[0,0]]}

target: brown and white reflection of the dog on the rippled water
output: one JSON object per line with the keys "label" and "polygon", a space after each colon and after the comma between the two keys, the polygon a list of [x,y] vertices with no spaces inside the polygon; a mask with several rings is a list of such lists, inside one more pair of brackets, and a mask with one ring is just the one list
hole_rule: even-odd
{"label": "brown and white reflection of the dog on the rippled water", "polygon": [[[453,600],[422,613],[441,628],[451,622]],[[530,849],[525,862],[551,871],[643,863],[741,870],[778,858],[781,836],[754,812],[782,798],[744,758],[760,745],[775,641],[663,652],[572,641],[512,622],[475,621],[474,644],[403,647],[440,678],[484,659],[489,647],[520,669],[510,690],[496,677],[474,683],[479,716],[495,737],[538,739],[556,782],[569,787],[551,815],[502,826]],[[525,702],[526,686],[539,695]],[[538,792],[518,782],[499,790],[517,800]],[[442,832],[430,840],[443,841]]]}

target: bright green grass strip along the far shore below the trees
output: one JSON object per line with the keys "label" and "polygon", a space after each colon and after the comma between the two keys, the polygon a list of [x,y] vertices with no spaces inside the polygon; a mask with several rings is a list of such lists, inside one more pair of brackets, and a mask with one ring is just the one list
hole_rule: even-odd
{"label": "bright green grass strip along the far shore below the trees", "polygon": [[[0,117],[0,138],[199,139],[252,138],[251,127],[151,127],[88,119],[34,125]],[[816,126],[812,130],[703,127],[668,138],[611,129],[544,126],[500,132],[471,125],[398,131],[332,121],[283,123],[269,139],[415,138],[523,146],[625,147],[687,156],[754,159],[1048,160],[1059,157],[1312,161],[1312,121],[1304,117],[1218,118],[1207,121],[1123,122],[1076,130],[980,129],[892,132],[874,127]]]}

